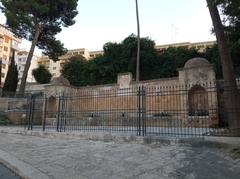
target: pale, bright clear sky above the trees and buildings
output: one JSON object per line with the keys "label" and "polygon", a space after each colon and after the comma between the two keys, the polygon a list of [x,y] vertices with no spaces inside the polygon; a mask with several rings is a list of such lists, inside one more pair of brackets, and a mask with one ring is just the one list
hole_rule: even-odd
{"label": "pale, bright clear sky above the trees and buildings", "polygon": [[[138,0],[141,36],[156,44],[215,40],[205,0]],[[135,0],[79,0],[75,25],[57,35],[65,47],[101,50],[136,33]],[[0,15],[0,23],[5,18]],[[22,47],[29,48],[24,41]]]}

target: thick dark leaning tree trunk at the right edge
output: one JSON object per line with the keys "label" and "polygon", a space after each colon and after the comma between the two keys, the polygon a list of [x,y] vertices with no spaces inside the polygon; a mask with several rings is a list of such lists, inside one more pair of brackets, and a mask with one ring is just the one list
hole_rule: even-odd
{"label": "thick dark leaning tree trunk at the right edge", "polygon": [[240,94],[237,88],[232,58],[224,34],[223,25],[217,9],[212,0],[207,0],[209,12],[212,18],[214,31],[217,38],[222,73],[224,79],[224,108],[229,127],[239,135],[240,130]]}

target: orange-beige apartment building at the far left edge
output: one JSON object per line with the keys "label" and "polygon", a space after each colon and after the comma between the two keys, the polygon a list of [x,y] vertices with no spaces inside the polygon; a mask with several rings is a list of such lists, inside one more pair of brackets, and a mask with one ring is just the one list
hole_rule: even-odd
{"label": "orange-beige apartment building at the far left edge", "polygon": [[[1,87],[4,85],[8,67],[11,62],[13,50],[19,50],[21,39],[14,35],[9,29],[0,24],[0,61],[1,61]],[[15,53],[16,54],[16,53]]]}

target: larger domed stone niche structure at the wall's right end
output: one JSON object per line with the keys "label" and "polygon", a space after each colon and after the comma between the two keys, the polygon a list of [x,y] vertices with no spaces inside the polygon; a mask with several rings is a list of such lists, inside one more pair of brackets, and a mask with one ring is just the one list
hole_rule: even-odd
{"label": "larger domed stone niche structure at the wall's right end", "polygon": [[179,69],[179,85],[183,87],[181,95],[183,119],[186,126],[213,126],[218,123],[218,101],[216,74],[214,65],[204,58],[188,60]]}

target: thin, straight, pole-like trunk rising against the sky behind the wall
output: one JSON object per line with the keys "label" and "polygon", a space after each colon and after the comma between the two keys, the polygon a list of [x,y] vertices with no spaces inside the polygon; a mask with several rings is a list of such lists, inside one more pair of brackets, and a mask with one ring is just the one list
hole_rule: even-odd
{"label": "thin, straight, pole-like trunk rising against the sky behind the wall", "polygon": [[140,81],[140,25],[138,15],[138,0],[136,0],[136,16],[137,16],[137,64],[136,64],[136,82]]}

